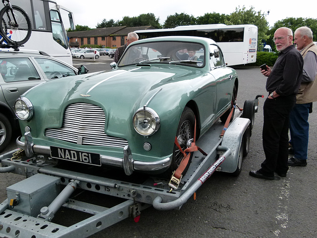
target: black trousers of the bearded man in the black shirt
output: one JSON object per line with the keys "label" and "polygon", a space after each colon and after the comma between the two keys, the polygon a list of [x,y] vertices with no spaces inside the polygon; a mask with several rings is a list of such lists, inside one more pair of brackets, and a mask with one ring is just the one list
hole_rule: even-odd
{"label": "black trousers of the bearded man in the black shirt", "polygon": [[274,171],[286,173],[288,170],[289,116],[295,102],[296,95],[266,98],[264,102],[262,139],[265,160],[260,169],[264,175],[273,176]]}

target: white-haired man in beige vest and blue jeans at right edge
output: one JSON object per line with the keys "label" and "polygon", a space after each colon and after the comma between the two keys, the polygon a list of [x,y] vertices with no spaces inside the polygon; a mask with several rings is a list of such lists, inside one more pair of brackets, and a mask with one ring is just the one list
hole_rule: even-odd
{"label": "white-haired man in beige vest and blue jeans at right edge", "polygon": [[296,105],[290,115],[290,144],[294,157],[288,160],[288,166],[306,166],[309,123],[313,101],[317,101],[317,46],[313,43],[313,32],[308,27],[295,31],[294,43],[304,57],[303,77],[296,96]]}

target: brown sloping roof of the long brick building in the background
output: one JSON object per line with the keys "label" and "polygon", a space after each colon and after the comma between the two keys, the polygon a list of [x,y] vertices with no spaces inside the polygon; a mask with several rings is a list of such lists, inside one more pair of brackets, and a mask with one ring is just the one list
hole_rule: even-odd
{"label": "brown sloping roof of the long brick building in the background", "polygon": [[90,31],[72,31],[67,32],[69,38],[72,37],[98,37],[98,36],[127,36],[128,33],[136,30],[148,30],[155,29],[152,26],[139,26],[139,27],[106,27],[106,28],[96,28]]}

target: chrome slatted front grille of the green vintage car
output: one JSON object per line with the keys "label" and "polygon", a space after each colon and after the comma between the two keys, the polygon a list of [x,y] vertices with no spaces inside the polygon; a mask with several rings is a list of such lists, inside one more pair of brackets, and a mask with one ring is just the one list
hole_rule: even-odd
{"label": "chrome slatted front grille of the green vintage car", "polygon": [[104,110],[88,103],[74,103],[64,112],[63,125],[59,129],[46,129],[45,136],[83,145],[101,145],[123,148],[128,142],[105,134]]}

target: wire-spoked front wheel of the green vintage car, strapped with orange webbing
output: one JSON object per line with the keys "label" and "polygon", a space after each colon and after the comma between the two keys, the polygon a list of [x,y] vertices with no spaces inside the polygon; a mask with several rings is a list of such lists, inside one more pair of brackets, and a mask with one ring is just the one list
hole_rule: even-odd
{"label": "wire-spoked front wheel of the green vintage car, strapped with orange webbing", "polygon": [[[194,139],[194,129],[195,129],[195,114],[192,111],[192,109],[190,109],[189,107],[185,107],[179,119],[177,133],[176,133],[177,141],[179,145],[181,146],[182,150],[187,148],[187,142],[189,140]],[[170,174],[178,168],[183,157],[184,155],[181,153],[181,151],[176,146],[176,144],[174,144],[172,162],[171,162],[171,166],[169,167]],[[186,173],[189,167],[189,164],[192,160],[192,157],[193,157],[193,153],[191,153],[187,167],[184,170],[183,174]]]}

